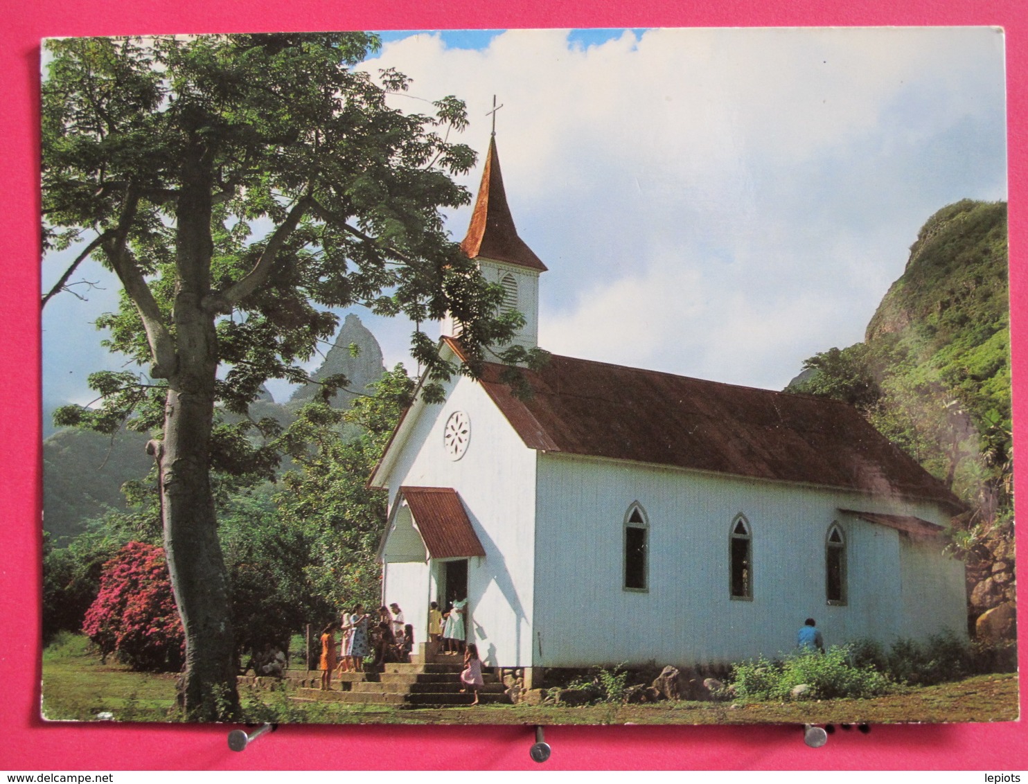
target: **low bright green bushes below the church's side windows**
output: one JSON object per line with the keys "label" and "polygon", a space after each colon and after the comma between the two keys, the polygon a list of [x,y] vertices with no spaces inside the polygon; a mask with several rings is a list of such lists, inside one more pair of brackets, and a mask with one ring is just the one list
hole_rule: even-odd
{"label": "low bright green bushes below the church's side windows", "polygon": [[854,665],[845,645],[833,645],[824,654],[796,654],[780,662],[760,658],[734,664],[729,684],[736,697],[756,701],[793,699],[793,688],[801,684],[810,690],[800,699],[877,697],[895,687],[873,667]]}

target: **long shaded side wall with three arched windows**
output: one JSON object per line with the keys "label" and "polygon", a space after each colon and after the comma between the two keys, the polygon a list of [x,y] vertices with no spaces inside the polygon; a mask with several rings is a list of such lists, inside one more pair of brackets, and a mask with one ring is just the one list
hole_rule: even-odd
{"label": "long shaded side wall with three arched windows", "polygon": [[[648,529],[648,590],[624,586],[624,521],[638,501]],[[621,662],[726,663],[796,645],[813,617],[827,644],[938,631],[964,608],[963,595],[926,601],[904,594],[900,532],[839,508],[945,518],[928,505],[770,482],[702,475],[567,455],[541,455],[536,539],[536,633],[546,667]],[[752,597],[730,597],[730,530],[743,515],[751,532]],[[846,538],[846,602],[829,605],[825,540],[838,522]],[[922,573],[952,570],[925,549]],[[910,578],[908,577],[908,585]],[[908,604],[906,597],[911,597]],[[935,604],[946,604],[944,609]]]}

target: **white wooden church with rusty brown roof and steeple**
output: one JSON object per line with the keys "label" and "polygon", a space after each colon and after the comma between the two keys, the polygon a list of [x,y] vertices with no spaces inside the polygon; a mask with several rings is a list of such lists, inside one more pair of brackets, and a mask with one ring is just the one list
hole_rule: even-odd
{"label": "white wooden church with rusty brown roof and steeple", "polygon": [[[490,141],[462,242],[535,346],[546,266],[521,240]],[[442,350],[461,359],[452,323]],[[382,597],[415,640],[468,599],[487,666],[705,665],[966,631],[957,498],[834,401],[554,356],[519,400],[455,375],[407,410],[370,480],[389,489]]]}

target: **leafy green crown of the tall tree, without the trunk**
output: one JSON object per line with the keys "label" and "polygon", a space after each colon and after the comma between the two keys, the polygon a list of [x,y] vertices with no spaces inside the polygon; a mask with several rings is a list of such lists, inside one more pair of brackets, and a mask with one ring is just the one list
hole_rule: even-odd
{"label": "leafy green crown of the tall tree, without the trunk", "polygon": [[[188,39],[61,39],[43,83],[43,213],[47,249],[102,240],[93,254],[124,278],[132,263],[149,294],[123,292],[104,315],[111,350],[141,365],[154,356],[149,318],[176,339],[172,319],[185,239],[176,223],[186,183],[183,161],[203,139],[200,187],[213,198],[205,311],[233,310],[217,321],[218,362],[228,367],[218,400],[245,413],[267,378],[302,380],[308,360],[329,337],[333,310],[363,304],[412,321],[451,312],[478,358],[504,344],[516,314],[498,314],[499,287],[446,236],[440,210],[460,207],[467,190],[450,179],[470,171],[474,152],[447,141],[466,126],[464,104],[448,96],[433,113],[403,114],[389,90],[409,79],[381,74],[384,89],[354,68],[378,39],[364,33],[219,35]],[[158,110],[159,109],[159,110]],[[190,183],[190,186],[193,183]],[[276,231],[255,234],[259,222]],[[126,248],[131,257],[120,251]],[[262,254],[261,285],[236,301],[234,288]],[[131,276],[131,275],[130,275]],[[225,301],[222,302],[222,299]],[[181,300],[175,304],[182,307]],[[319,307],[321,305],[322,307]],[[220,310],[219,310],[220,309]],[[147,330],[151,334],[147,334]],[[417,341],[433,380],[453,368],[434,345]],[[111,432],[144,398],[159,403],[162,382],[131,372],[95,374],[99,409],[62,412],[61,420]],[[332,379],[324,387],[326,395]],[[152,408],[152,406],[151,406]],[[158,406],[159,408],[159,406]],[[159,422],[159,416],[157,422]]]}

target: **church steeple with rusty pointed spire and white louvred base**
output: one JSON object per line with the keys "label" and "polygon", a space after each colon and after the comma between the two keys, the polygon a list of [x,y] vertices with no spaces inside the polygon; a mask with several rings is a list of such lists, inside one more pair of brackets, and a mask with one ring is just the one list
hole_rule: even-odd
{"label": "church steeple with rusty pointed spire and white louvred base", "polygon": [[[500,172],[494,134],[489,139],[482,183],[478,187],[475,211],[461,250],[478,263],[486,281],[504,288],[506,296],[501,312],[517,310],[524,316],[524,326],[511,342],[535,348],[539,344],[539,275],[546,271],[546,265],[514,228],[514,217],[507,204],[504,178]],[[456,337],[460,333],[460,324],[447,315],[442,323],[442,334]]]}

